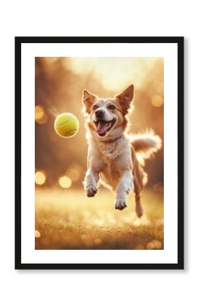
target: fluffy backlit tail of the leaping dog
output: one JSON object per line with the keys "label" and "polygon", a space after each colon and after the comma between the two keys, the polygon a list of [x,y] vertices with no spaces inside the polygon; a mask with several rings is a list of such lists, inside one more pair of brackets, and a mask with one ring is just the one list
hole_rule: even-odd
{"label": "fluffy backlit tail of the leaping dog", "polygon": [[137,153],[137,159],[142,164],[144,164],[144,159],[153,157],[154,153],[162,147],[161,138],[155,135],[152,129],[145,133],[132,135],[131,142]]}

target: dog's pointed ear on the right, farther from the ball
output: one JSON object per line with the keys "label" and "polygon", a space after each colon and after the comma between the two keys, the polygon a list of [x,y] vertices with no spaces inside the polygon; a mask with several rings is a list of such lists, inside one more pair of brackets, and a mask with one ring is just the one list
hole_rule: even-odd
{"label": "dog's pointed ear on the right, farther from the ball", "polygon": [[123,92],[115,95],[115,98],[119,101],[122,111],[127,114],[132,107],[132,99],[134,97],[134,86],[131,84]]}

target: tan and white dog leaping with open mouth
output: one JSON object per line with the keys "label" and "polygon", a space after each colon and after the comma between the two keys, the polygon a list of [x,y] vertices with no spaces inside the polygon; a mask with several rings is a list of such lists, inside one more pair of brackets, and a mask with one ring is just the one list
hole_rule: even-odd
{"label": "tan and white dog leaping with open mouth", "polygon": [[88,197],[98,192],[98,182],[115,192],[115,209],[126,207],[126,196],[135,192],[137,216],[143,215],[141,191],[147,182],[144,160],[162,146],[162,140],[149,130],[129,135],[128,116],[133,110],[134,86],[114,98],[102,99],[83,90],[88,155],[84,188]]}

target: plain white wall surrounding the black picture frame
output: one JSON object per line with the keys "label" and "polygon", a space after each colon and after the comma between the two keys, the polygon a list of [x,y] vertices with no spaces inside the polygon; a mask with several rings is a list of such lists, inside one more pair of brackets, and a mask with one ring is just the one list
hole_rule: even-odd
{"label": "plain white wall surrounding the black picture frame", "polygon": [[[186,307],[190,301],[197,303],[195,3],[182,0],[1,3],[1,307]],[[14,270],[14,36],[186,37],[186,270]]]}

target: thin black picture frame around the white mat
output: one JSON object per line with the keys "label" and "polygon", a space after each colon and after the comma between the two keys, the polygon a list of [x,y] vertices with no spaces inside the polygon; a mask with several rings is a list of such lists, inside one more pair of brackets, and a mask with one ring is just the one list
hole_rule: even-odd
{"label": "thin black picture frame around the white mat", "polygon": [[[178,44],[178,263],[22,264],[21,263],[21,44],[175,43]],[[15,38],[15,269],[182,270],[184,269],[184,37],[16,37]]]}

